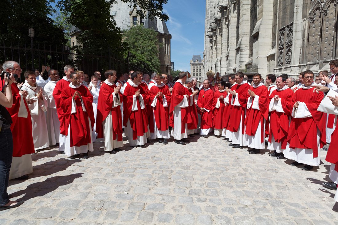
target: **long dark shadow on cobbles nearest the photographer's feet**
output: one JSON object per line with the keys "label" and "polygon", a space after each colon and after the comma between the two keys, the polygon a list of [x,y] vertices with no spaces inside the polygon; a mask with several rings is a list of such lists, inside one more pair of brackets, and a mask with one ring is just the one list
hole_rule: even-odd
{"label": "long dark shadow on cobbles nearest the photographer's feet", "polygon": [[17,199],[16,201],[27,201],[31,198],[41,197],[55,191],[59,186],[73,183],[76,178],[82,177],[82,174],[83,173],[76,173],[66,176],[49,177],[44,181],[29,184],[25,190],[11,193],[11,195],[13,195],[13,197],[17,197],[24,194],[22,198]]}

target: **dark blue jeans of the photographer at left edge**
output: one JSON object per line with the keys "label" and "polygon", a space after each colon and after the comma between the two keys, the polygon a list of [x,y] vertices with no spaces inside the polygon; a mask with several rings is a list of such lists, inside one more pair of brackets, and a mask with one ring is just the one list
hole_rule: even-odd
{"label": "dark blue jeans of the photographer at left edge", "polygon": [[0,206],[9,202],[7,187],[13,159],[13,137],[10,125],[3,125],[0,132]]}

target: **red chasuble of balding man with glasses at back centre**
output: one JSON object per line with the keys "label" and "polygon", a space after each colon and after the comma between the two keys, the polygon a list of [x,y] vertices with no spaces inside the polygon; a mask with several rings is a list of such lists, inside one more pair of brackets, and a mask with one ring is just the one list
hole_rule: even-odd
{"label": "red chasuble of balding man with glasses at back centre", "polygon": [[209,129],[212,127],[212,110],[214,108],[214,92],[211,89],[204,90],[202,89],[199,92],[197,105],[200,108],[208,109],[201,113],[201,129]]}

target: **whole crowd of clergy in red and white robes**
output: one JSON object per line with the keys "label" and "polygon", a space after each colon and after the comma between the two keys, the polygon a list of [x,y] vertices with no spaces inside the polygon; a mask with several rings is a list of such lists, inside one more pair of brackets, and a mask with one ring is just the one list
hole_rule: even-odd
{"label": "whole crowd of clergy in red and white robes", "polygon": [[[3,70],[19,76],[22,71],[14,61],[6,61]],[[42,78],[45,71],[48,80]],[[320,165],[320,149],[330,144],[326,160],[332,182],[323,185],[337,190],[337,117],[335,111],[325,111],[328,105],[338,107],[332,94],[338,92],[336,74],[337,59],[330,62],[330,73],[307,70],[298,79],[268,74],[264,82],[255,74],[248,83],[237,72],[225,82],[209,71],[199,87],[188,72],[173,81],[166,74],[115,70],[105,71],[104,79],[99,71],[89,78],[70,65],[62,74],[45,66],[41,72],[26,71],[24,83],[11,85],[11,131],[20,141],[14,142],[10,179],[27,178],[31,154],[50,146],[72,159],[87,159],[96,138],[103,138],[105,152],[115,154],[124,146],[123,134],[129,146],[144,148],[154,141],[166,145],[171,136],[186,145],[194,135],[208,138],[213,133],[232,148],[248,147],[249,154],[259,154],[267,143],[270,156],[291,159],[291,166],[306,171]],[[321,104],[324,99],[329,103]]]}

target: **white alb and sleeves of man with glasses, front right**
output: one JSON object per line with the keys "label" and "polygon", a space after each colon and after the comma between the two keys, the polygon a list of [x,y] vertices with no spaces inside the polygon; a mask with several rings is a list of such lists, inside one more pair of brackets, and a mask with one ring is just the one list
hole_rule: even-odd
{"label": "white alb and sleeves of man with glasses, front right", "polygon": [[[295,111],[295,108],[292,109],[291,116],[293,118],[308,118],[312,117],[308,107],[304,102],[299,102],[298,109]],[[295,160],[298,163],[307,164],[310,166],[319,166],[320,164],[320,131],[317,128],[317,144],[318,144],[318,157],[313,157],[312,149],[301,149],[301,148],[290,148],[290,144],[287,143],[287,147],[284,150],[284,157],[288,159]]]}

